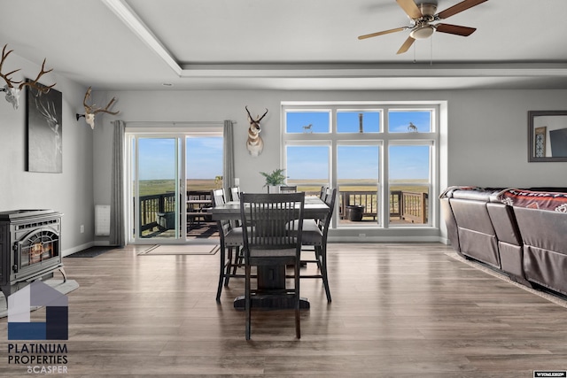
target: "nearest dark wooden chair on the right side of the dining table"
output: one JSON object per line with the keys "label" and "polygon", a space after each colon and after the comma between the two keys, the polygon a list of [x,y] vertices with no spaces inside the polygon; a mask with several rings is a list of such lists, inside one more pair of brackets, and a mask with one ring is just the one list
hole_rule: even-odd
{"label": "nearest dark wooden chair on the right side of the dining table", "polygon": [[[326,189],[323,196],[323,201],[330,207],[330,212],[327,213],[322,220],[305,220],[303,223],[303,235],[301,243],[303,243],[303,252],[313,252],[314,258],[301,259],[301,266],[307,266],[309,263],[315,263],[318,274],[301,274],[300,278],[316,278],[322,279],[322,284],[325,288],[325,295],[327,301],[331,302],[330,288],[329,288],[329,274],[327,271],[327,236],[329,235],[330,220],[335,210],[335,201],[337,198],[337,189]],[[305,246],[313,247],[305,248]]]}

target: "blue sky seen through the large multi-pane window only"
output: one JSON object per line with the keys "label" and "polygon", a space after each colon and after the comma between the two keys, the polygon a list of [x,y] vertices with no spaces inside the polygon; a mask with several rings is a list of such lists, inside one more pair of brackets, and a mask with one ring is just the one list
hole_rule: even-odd
{"label": "blue sky seen through the large multi-pane window only", "polygon": [[[361,118],[362,114],[362,127]],[[379,133],[380,112],[338,112],[337,132]],[[418,132],[430,132],[431,112],[395,111],[388,112],[390,133],[408,133],[410,122]],[[328,133],[330,112],[287,112],[288,133]],[[377,138],[379,136],[377,135]],[[347,138],[348,139],[348,138]],[[339,145],[337,157],[338,180],[374,179],[377,181],[380,166],[380,147],[377,145]],[[390,180],[416,180],[429,178],[429,146],[391,146],[389,155]],[[288,146],[287,175],[292,179],[326,179],[329,174],[329,153],[327,146]],[[309,157],[308,159],[306,157]]]}

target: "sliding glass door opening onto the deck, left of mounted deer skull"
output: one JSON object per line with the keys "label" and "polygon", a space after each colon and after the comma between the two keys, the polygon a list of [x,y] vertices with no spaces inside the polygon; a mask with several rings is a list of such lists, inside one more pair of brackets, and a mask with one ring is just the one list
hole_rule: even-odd
{"label": "sliding glass door opening onto the deck, left of mounted deer skull", "polygon": [[206,208],[211,189],[222,185],[221,132],[128,137],[129,243],[185,243],[214,235]]}

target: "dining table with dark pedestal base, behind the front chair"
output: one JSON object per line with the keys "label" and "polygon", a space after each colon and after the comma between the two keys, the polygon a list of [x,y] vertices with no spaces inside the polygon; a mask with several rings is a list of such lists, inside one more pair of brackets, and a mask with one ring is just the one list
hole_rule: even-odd
{"label": "dining table with dark pedestal base, behind the front chair", "polygon": [[[208,209],[211,213],[213,220],[241,220],[240,216],[240,202],[229,201],[225,204],[220,204]],[[329,205],[325,204],[319,197],[305,197],[305,204],[303,207],[304,220],[322,220],[330,212]],[[269,294],[270,291],[281,291],[285,289],[285,266],[258,266],[257,280],[258,291],[260,293]],[[262,309],[280,309],[294,308],[294,301],[292,296],[264,296],[257,300],[253,300],[252,306]],[[308,309],[309,301],[307,298],[300,299],[300,308]],[[234,307],[237,310],[244,310],[245,297],[239,296],[234,300]]]}

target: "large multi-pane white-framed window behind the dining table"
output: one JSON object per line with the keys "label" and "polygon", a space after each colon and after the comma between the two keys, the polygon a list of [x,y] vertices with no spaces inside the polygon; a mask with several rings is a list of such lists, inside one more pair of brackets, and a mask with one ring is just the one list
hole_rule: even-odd
{"label": "large multi-pane white-framed window behind the dining table", "polygon": [[[283,164],[307,195],[338,189],[338,228],[431,226],[439,104],[283,104]],[[361,216],[361,217],[360,217]]]}

